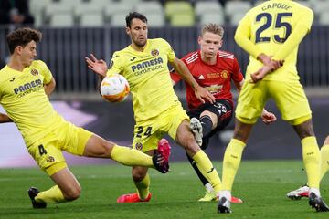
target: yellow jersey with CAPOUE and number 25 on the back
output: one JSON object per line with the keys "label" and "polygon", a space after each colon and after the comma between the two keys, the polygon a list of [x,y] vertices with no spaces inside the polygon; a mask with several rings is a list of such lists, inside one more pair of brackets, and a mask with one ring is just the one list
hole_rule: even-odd
{"label": "yellow jersey with CAPOUE and number 25 on the back", "polygon": [[[262,52],[276,60],[284,59],[283,67],[268,74],[264,80],[299,80],[296,69],[298,44],[292,44],[292,37],[299,36],[297,26],[310,30],[312,23],[313,11],[291,0],[270,0],[250,9],[239,22],[235,36],[237,43],[244,44],[242,47],[252,55],[246,78],[263,66],[256,59]],[[247,36],[252,45],[243,42],[243,36]]]}

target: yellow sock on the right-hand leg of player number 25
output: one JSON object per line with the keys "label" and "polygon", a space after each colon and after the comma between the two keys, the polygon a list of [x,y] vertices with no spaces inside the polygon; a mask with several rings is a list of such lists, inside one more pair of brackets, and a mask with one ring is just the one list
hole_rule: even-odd
{"label": "yellow sock on the right-hand leg of player number 25", "polygon": [[320,151],[314,136],[302,139],[302,160],[307,173],[308,186],[318,189],[320,184]]}

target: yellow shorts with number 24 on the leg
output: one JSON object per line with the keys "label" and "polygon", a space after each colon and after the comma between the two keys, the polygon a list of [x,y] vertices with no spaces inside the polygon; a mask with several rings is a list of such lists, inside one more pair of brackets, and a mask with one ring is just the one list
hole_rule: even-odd
{"label": "yellow shorts with number 24 on the leg", "polygon": [[189,117],[182,105],[177,103],[150,120],[137,122],[133,131],[133,148],[143,152],[154,150],[166,133],[175,140],[178,126],[183,120],[189,120]]}

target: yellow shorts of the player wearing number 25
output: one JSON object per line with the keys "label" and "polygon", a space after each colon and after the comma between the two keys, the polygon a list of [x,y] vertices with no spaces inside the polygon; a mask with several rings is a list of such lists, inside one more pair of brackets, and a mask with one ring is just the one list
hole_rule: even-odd
{"label": "yellow shorts of the player wearing number 25", "polygon": [[312,111],[299,81],[281,82],[261,80],[256,84],[244,83],[236,110],[238,120],[254,124],[268,99],[273,99],[282,120],[299,125],[312,118]]}

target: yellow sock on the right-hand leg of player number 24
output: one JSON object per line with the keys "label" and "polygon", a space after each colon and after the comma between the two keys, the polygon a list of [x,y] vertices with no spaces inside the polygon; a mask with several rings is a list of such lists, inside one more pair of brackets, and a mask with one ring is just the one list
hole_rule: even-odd
{"label": "yellow sock on the right-hand leg of player number 24", "polygon": [[192,158],[196,162],[196,166],[199,171],[206,177],[207,181],[212,185],[215,192],[218,193],[221,189],[221,182],[218,176],[218,172],[213,167],[207,154],[200,150]]}

